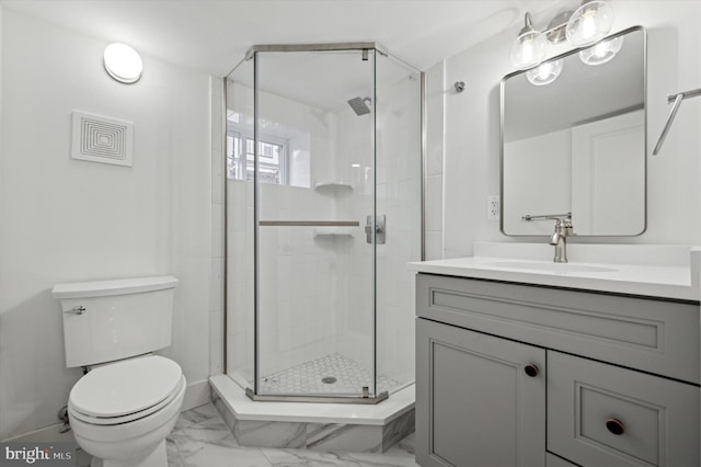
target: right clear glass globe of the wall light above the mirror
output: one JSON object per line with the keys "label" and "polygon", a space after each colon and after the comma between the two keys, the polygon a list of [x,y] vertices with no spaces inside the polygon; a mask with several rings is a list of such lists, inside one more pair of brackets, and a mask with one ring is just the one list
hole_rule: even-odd
{"label": "right clear glass globe of the wall light above the mirror", "polygon": [[567,21],[565,34],[575,47],[585,47],[606,37],[613,25],[613,11],[606,2],[583,1]]}

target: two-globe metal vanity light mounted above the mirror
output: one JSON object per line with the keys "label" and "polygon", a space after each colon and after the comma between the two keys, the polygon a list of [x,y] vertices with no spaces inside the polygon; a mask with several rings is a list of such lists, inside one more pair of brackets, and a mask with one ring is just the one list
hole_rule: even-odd
{"label": "two-globe metal vanity light mounted above the mirror", "polygon": [[[544,32],[533,27],[533,19],[529,12],[526,13],[525,23],[510,50],[512,65],[519,70],[527,70],[540,64],[548,55],[549,42],[558,44],[566,38],[575,47],[586,47],[600,41],[611,31],[613,11],[602,0],[583,0],[575,12],[563,11],[555,15]],[[607,58],[607,61],[613,55]],[[585,62],[587,65],[604,62],[595,61]]]}

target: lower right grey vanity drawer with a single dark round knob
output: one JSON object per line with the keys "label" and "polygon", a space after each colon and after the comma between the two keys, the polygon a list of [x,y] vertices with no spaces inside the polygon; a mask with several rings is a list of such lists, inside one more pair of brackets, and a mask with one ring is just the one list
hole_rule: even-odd
{"label": "lower right grey vanity drawer with a single dark round knob", "polygon": [[696,467],[699,388],[548,351],[548,451],[585,467]]}

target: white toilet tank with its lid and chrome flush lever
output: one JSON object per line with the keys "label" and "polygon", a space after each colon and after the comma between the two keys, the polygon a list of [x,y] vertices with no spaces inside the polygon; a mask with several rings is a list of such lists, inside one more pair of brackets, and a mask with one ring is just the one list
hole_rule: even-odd
{"label": "white toilet tank with its lid and chrome flush lever", "polygon": [[173,276],[57,284],[66,366],[95,365],[171,344]]}

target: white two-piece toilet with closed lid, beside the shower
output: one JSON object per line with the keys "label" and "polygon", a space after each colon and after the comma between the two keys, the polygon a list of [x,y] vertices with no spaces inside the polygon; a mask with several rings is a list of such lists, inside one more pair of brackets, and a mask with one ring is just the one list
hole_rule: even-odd
{"label": "white two-piece toilet with closed lid, beside the shower", "polygon": [[172,276],[58,284],[66,366],[88,373],[68,398],[70,425],[92,467],[166,467],[165,436],[185,395],[171,344]]}

